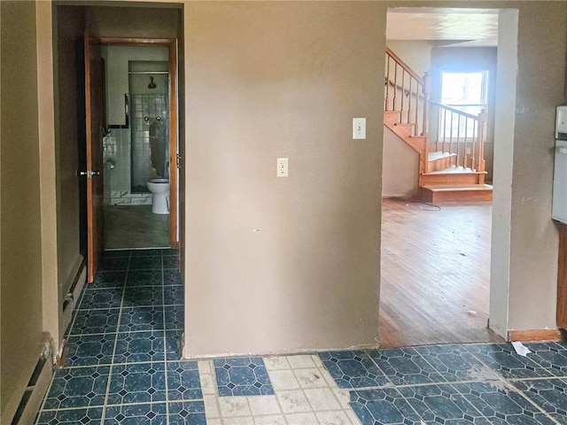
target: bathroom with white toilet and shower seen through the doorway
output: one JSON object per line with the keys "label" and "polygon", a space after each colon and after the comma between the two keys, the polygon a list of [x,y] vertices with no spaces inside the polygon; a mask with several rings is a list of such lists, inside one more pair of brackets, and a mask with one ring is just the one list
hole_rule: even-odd
{"label": "bathroom with white toilet and shower seen through the doorway", "polygon": [[170,241],[167,47],[105,45],[105,249]]}

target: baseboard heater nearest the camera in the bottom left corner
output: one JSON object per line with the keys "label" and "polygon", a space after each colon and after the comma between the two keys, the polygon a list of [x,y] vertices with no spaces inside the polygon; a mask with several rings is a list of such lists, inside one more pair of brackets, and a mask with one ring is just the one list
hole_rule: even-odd
{"label": "baseboard heater nearest the camera in the bottom left corner", "polygon": [[[44,342],[41,344],[41,353],[34,371],[29,377],[26,390],[19,401],[16,413],[12,418],[12,425],[29,425],[35,423],[35,417],[43,402],[43,397],[51,382],[53,375],[53,352],[50,338],[44,334]],[[4,421],[3,421],[4,423]]]}

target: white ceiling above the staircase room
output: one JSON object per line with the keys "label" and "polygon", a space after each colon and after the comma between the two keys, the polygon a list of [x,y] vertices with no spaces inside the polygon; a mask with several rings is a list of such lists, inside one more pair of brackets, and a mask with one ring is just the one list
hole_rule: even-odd
{"label": "white ceiling above the staircase room", "polygon": [[394,8],[387,14],[388,40],[458,42],[496,46],[498,11],[494,9]]}

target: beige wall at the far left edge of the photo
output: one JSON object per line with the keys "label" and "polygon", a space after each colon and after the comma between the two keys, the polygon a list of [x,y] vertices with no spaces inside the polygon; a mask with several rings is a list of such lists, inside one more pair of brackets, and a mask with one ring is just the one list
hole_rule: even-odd
{"label": "beige wall at the far left edge of the photo", "polygon": [[39,358],[42,245],[35,3],[0,2],[0,422],[10,423]]}

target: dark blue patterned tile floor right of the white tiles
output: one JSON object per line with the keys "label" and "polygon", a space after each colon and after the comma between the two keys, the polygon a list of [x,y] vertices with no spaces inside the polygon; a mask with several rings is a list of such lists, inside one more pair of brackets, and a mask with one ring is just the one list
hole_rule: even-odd
{"label": "dark blue patterned tile floor right of the white tiles", "polygon": [[350,406],[363,425],[567,425],[567,344],[526,345],[528,357],[510,344],[319,356],[340,388],[353,389]]}

